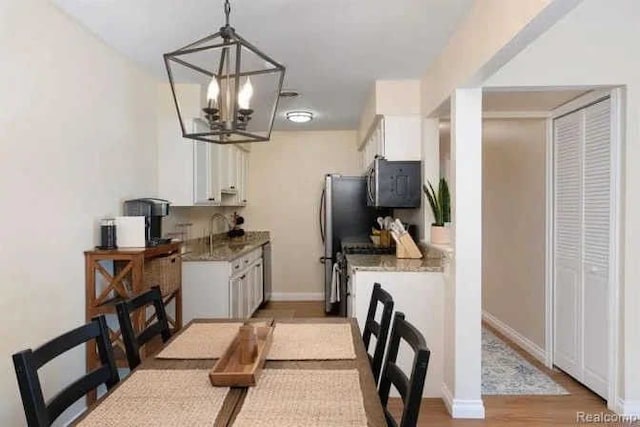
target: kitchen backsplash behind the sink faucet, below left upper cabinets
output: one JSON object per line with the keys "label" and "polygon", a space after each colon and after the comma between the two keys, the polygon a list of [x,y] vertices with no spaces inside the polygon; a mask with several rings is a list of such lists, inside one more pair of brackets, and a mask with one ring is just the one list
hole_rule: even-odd
{"label": "kitchen backsplash behind the sink faucet, below left upper cabinets", "polygon": [[[215,213],[224,215],[229,221],[234,212],[242,215],[242,207],[212,207],[212,206],[171,206],[169,208],[169,216],[164,218],[162,223],[162,231],[166,235],[167,233],[179,232],[180,227],[177,224],[190,223],[191,236],[190,238],[198,238],[203,235],[209,235],[209,218]],[[243,215],[244,216],[244,215]],[[224,233],[228,230],[227,224],[220,218],[217,218],[214,223],[214,233]],[[241,226],[244,229],[251,229],[251,221],[245,218],[245,223]]]}

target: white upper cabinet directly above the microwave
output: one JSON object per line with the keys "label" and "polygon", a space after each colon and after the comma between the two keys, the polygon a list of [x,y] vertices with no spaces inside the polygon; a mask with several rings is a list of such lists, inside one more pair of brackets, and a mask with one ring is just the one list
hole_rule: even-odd
{"label": "white upper cabinet directly above the microwave", "polygon": [[373,159],[421,160],[422,127],[420,116],[377,115],[361,141],[361,166],[366,172]]}

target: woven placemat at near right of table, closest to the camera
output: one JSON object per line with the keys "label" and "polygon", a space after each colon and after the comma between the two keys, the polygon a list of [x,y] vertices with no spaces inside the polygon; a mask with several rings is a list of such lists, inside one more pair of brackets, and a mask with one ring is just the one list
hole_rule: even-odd
{"label": "woven placemat at near right of table, closest to the camera", "polygon": [[265,369],[234,427],[367,425],[358,371]]}

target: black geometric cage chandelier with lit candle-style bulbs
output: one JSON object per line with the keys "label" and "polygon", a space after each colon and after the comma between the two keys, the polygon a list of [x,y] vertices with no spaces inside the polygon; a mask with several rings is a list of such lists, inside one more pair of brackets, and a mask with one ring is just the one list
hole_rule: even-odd
{"label": "black geometric cage chandelier with lit candle-style bulbs", "polygon": [[229,25],[229,0],[224,12],[220,31],[164,55],[182,136],[218,144],[268,141],[285,67]]}

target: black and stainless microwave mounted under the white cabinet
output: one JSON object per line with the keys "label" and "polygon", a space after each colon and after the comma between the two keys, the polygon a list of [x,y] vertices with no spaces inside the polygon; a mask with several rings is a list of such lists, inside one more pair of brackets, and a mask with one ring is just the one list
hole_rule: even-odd
{"label": "black and stainless microwave mounted under the white cabinet", "polygon": [[422,200],[420,161],[376,157],[367,173],[367,206],[419,208]]}

